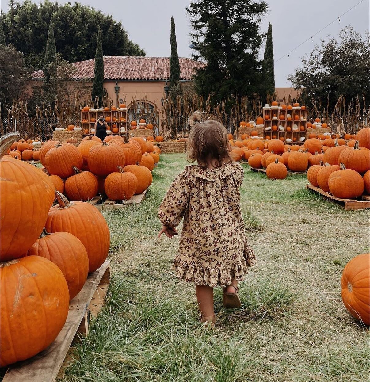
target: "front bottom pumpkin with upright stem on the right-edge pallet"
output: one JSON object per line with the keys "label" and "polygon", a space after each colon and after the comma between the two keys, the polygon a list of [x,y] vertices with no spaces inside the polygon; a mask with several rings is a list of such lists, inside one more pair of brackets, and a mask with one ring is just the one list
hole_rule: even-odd
{"label": "front bottom pumpkin with upright stem on the right-edge pallet", "polygon": [[364,193],[364,179],[355,170],[346,169],[343,163],[340,170],[329,175],[330,192],[341,199],[354,199]]}

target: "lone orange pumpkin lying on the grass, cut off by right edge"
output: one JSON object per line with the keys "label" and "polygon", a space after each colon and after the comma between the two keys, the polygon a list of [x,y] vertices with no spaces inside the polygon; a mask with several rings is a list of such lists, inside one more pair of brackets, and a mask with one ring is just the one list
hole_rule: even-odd
{"label": "lone orange pumpkin lying on the grass, cut off by right edge", "polygon": [[349,261],[343,269],[342,300],[352,316],[370,325],[370,253]]}

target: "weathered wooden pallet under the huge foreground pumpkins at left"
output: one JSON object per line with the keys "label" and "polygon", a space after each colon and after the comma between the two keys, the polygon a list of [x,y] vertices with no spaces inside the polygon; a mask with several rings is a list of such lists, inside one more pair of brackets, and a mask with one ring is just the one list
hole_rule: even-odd
{"label": "weathered wooden pallet under the huge foreground pumpkins at left", "polygon": [[89,333],[90,316],[100,311],[109,283],[110,261],[106,260],[89,274],[80,293],[70,301],[66,323],[55,341],[36,356],[11,365],[3,382],[55,381],[76,333]]}

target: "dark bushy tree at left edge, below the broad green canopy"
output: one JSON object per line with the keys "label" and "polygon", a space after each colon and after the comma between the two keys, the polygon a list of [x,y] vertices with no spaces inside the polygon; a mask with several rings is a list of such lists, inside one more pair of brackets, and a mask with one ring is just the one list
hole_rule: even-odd
{"label": "dark bushy tree at left edge, below the broad green canopy", "polygon": [[0,57],[0,102],[9,105],[23,94],[30,71],[24,66],[23,53],[11,44],[0,44]]}

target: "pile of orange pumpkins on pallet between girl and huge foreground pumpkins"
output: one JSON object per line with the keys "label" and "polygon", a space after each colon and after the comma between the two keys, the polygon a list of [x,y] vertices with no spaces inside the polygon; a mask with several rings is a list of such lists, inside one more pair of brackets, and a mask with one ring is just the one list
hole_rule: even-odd
{"label": "pile of orange pumpkins on pallet between girl and huge foreground pumpkins", "polygon": [[152,183],[160,149],[141,137],[111,135],[101,141],[87,136],[76,147],[47,141],[40,149],[42,169],[70,201],[87,201],[97,194],[128,200]]}

